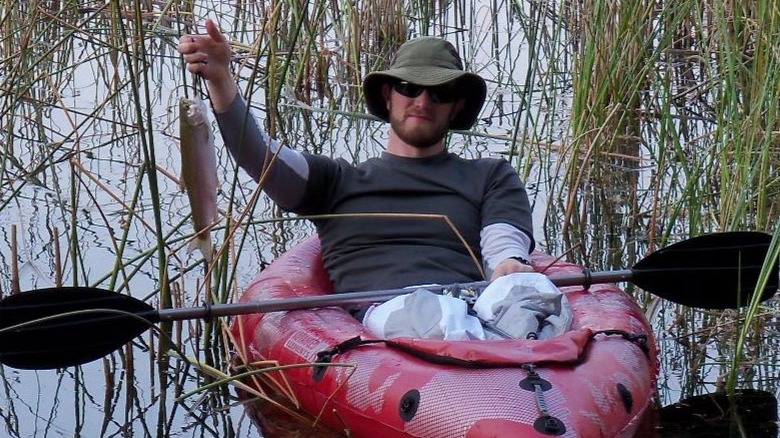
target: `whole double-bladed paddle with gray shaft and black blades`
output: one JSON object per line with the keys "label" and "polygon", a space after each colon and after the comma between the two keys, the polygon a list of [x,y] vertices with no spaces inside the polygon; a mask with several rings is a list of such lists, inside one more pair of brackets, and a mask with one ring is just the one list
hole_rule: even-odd
{"label": "whole double-bladed paddle with gray shaft and black blades", "polygon": [[[550,280],[557,286],[630,281],[690,307],[739,308],[755,292],[771,240],[772,236],[760,232],[707,234],[655,251],[630,269],[552,276]],[[778,263],[774,260],[760,300],[772,297],[777,288]],[[38,289],[0,300],[0,363],[20,369],[64,368],[105,356],[161,321],[345,306],[408,292],[349,292],[157,310],[129,295],[93,287]]]}

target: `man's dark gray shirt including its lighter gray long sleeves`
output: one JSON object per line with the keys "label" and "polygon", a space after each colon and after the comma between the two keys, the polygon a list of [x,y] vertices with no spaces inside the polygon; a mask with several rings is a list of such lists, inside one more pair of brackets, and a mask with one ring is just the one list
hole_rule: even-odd
{"label": "man's dark gray shirt including its lighter gray long sleeves", "polygon": [[505,160],[384,153],[352,165],[280,146],[241,98],[217,121],[238,164],[280,207],[348,215],[313,220],[336,291],[481,280],[482,263],[490,270],[533,249],[528,196]]}

